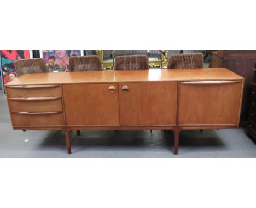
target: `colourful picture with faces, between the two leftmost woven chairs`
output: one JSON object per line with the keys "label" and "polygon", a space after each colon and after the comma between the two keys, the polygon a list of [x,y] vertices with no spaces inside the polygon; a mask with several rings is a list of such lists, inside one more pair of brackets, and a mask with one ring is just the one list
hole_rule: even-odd
{"label": "colourful picture with faces, between the two leftmost woven chairs", "polygon": [[69,57],[83,56],[83,50],[43,50],[40,57],[44,58],[49,72],[62,72],[69,70]]}

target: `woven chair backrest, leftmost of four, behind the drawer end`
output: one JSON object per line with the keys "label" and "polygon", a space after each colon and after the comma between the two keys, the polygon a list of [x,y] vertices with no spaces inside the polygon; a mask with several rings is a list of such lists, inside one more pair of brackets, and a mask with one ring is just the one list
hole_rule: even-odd
{"label": "woven chair backrest, leftmost of four, behind the drawer end", "polygon": [[15,61],[17,77],[24,74],[48,73],[43,58],[20,59]]}

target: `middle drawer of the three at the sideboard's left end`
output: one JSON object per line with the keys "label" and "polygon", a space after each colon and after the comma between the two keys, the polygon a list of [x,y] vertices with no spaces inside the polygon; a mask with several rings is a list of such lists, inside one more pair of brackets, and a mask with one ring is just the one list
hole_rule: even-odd
{"label": "middle drawer of the three at the sideboard's left end", "polygon": [[62,112],[61,97],[8,98],[10,112]]}

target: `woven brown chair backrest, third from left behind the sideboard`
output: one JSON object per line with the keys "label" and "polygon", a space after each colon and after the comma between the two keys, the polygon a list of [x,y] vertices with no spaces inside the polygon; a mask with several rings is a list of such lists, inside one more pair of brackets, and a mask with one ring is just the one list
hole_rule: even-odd
{"label": "woven brown chair backrest, third from left behind the sideboard", "polygon": [[148,69],[148,57],[146,55],[117,56],[114,70]]}

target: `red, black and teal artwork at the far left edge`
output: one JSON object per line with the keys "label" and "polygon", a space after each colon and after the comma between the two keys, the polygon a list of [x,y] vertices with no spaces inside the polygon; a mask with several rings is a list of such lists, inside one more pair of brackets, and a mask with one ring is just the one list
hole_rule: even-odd
{"label": "red, black and teal artwork at the far left edge", "polygon": [[33,53],[30,50],[0,50],[0,71],[2,78],[3,94],[4,84],[12,81],[17,77],[15,69],[15,60],[33,58]]}

